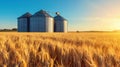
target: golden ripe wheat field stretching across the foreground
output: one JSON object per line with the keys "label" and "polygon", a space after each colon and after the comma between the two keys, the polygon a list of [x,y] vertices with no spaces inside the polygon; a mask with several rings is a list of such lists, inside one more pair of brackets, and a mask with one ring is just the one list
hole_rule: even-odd
{"label": "golden ripe wheat field stretching across the foreground", "polygon": [[0,32],[0,67],[120,67],[120,33]]}

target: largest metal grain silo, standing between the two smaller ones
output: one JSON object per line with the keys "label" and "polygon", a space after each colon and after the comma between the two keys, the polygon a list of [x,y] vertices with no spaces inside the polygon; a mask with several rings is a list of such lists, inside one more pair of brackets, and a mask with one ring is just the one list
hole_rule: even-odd
{"label": "largest metal grain silo, standing between the two smaller ones", "polygon": [[31,32],[53,32],[54,20],[46,11],[40,10],[30,18]]}

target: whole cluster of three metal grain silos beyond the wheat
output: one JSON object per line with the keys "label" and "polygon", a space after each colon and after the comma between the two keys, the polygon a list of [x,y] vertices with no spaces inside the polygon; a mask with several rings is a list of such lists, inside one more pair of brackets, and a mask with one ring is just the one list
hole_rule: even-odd
{"label": "whole cluster of three metal grain silos beyond the wheat", "polygon": [[54,18],[46,11],[25,13],[18,18],[18,32],[67,32],[68,22],[56,12]]}

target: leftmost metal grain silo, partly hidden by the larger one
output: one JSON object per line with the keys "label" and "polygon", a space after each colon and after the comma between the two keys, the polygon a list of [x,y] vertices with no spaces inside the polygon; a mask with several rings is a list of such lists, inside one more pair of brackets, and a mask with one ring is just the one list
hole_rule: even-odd
{"label": "leftmost metal grain silo, partly hidden by the larger one", "polygon": [[18,32],[29,32],[30,27],[30,13],[25,13],[24,15],[18,17]]}

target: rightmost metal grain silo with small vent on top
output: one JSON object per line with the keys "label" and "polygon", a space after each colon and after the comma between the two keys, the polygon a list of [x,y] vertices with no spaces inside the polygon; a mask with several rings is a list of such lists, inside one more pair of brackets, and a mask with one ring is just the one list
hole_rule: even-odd
{"label": "rightmost metal grain silo with small vent on top", "polygon": [[67,32],[68,31],[68,22],[65,18],[60,16],[57,12],[57,16],[54,17],[54,31],[55,32]]}

